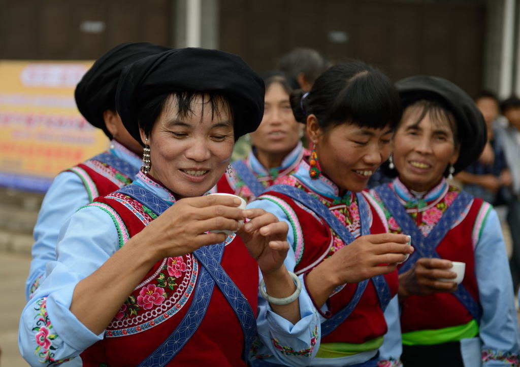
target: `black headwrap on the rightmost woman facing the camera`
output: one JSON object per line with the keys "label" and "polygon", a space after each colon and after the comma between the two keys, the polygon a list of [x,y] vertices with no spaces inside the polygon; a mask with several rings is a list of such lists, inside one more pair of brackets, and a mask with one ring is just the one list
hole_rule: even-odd
{"label": "black headwrap on the rightmost woman facing the camera", "polygon": [[466,92],[444,78],[426,75],[411,76],[395,85],[403,108],[419,100],[433,100],[453,114],[460,144],[454,173],[462,171],[480,156],[487,142],[486,123]]}

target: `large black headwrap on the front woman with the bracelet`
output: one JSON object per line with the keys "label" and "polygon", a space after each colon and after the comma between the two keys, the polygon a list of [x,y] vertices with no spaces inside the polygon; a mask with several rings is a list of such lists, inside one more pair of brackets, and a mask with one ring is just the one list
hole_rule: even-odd
{"label": "large black headwrap on the front woman with the bracelet", "polygon": [[262,121],[264,81],[239,56],[219,50],[179,48],[136,61],[121,74],[116,108],[134,139],[141,142],[141,108],[155,97],[174,92],[212,93],[226,98],[233,111],[235,139],[255,131]]}

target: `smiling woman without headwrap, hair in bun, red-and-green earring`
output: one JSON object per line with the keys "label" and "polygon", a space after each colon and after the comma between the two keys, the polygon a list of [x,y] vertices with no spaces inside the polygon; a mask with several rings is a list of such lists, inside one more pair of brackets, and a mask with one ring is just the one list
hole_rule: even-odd
{"label": "smiling woman without headwrap, hair in bun, red-and-green earring", "polygon": [[[383,341],[389,329],[400,335],[396,267],[413,249],[408,236],[385,233],[384,216],[362,192],[391,152],[397,91],[355,61],[332,66],[308,94],[295,90],[291,106],[314,149],[250,207],[289,225],[286,264],[321,315],[321,344],[308,365],[398,366],[400,337]],[[261,350],[253,357],[263,365]]]}

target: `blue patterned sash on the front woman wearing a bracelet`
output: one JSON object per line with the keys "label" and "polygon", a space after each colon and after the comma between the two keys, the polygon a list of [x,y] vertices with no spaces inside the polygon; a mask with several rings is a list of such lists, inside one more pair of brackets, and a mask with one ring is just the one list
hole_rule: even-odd
{"label": "blue patterned sash on the front woman wearing a bracelet", "polygon": [[[134,198],[157,215],[161,215],[170,207],[167,201],[135,184],[122,187],[117,192]],[[193,301],[177,328],[150,356],[139,363],[138,367],[162,367],[175,357],[204,318],[215,283],[240,321],[244,333],[244,356],[247,354],[256,337],[256,317],[248,300],[220,266],[223,253],[224,243],[203,246],[193,251],[193,255],[202,264]]]}

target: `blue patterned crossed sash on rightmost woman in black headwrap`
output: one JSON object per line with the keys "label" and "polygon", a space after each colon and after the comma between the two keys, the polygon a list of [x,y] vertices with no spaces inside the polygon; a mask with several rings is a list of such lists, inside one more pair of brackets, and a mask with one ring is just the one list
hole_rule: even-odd
{"label": "blue patterned crossed sash on rightmost woman in black headwrap", "polygon": [[[417,227],[417,224],[415,224],[415,222],[410,218],[406,209],[397,199],[394,191],[387,184],[376,187],[375,192],[381,197],[386,209],[388,209],[399,227],[401,227],[402,233],[407,234],[412,238],[412,244],[415,248],[414,253],[410,255],[408,261],[400,267],[399,274],[412,268],[419,257],[434,257],[440,259],[440,256],[436,251],[437,246],[439,246],[439,243],[447,235],[453,223],[460,218],[466,207],[471,203],[471,200],[473,200],[471,195],[463,191],[460,192],[449,208],[443,213],[443,216],[441,216],[440,220],[433,227],[430,234],[428,234],[427,237],[424,237]],[[473,318],[480,323],[482,308],[478,302],[475,301],[470,292],[464,287],[464,284],[460,283],[457,290],[452,294],[457,297],[464,307],[466,307]]]}

